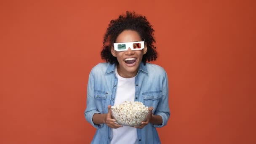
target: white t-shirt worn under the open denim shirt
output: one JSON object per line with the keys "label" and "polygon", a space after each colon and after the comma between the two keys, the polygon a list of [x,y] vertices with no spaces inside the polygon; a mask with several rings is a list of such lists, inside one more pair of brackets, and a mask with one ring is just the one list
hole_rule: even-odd
{"label": "white t-shirt worn under the open denim shirt", "polygon": [[[135,77],[124,78],[118,75],[117,68],[115,68],[117,76],[117,91],[114,104],[121,104],[125,101],[134,101],[135,98]],[[112,140],[110,144],[138,144],[137,129],[131,126],[121,128],[112,128]]]}

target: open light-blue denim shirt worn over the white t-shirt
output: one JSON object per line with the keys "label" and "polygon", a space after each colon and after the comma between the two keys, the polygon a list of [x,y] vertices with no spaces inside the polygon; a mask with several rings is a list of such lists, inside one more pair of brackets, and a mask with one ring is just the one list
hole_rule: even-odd
{"label": "open light-blue denim shirt worn over the white t-shirt", "polygon": [[[87,87],[87,103],[85,109],[86,120],[97,128],[92,144],[109,144],[111,128],[106,124],[93,123],[93,115],[108,112],[108,105],[113,106],[117,90],[117,77],[115,64],[99,63],[90,72]],[[156,128],[167,124],[170,116],[168,104],[168,77],[165,70],[156,65],[143,63],[139,66],[139,72],[135,77],[135,99],[147,107],[153,107],[152,113],[160,115],[163,119],[161,125],[149,123],[144,128],[137,128],[139,144],[160,144]]]}

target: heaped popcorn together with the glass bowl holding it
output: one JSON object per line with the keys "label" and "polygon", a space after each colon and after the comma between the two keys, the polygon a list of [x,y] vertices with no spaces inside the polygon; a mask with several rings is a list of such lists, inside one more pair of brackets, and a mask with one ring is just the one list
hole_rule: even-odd
{"label": "heaped popcorn together with the glass bowl holding it", "polygon": [[119,125],[138,126],[147,119],[149,110],[139,101],[125,101],[112,106],[111,112]]}

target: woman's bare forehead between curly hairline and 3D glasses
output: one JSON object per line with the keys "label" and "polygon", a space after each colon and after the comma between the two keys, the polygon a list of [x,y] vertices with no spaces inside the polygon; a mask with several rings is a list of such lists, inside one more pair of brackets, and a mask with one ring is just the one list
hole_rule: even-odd
{"label": "woman's bare forehead between curly hairline and 3D glasses", "polygon": [[116,43],[135,42],[141,41],[141,37],[138,32],[134,30],[124,30],[116,39]]}

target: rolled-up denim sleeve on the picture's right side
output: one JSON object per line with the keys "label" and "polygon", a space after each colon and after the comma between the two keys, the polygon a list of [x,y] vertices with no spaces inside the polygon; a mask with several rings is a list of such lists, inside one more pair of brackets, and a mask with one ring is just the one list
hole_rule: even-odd
{"label": "rolled-up denim sleeve on the picture's right side", "polygon": [[156,128],[161,128],[167,124],[168,119],[170,117],[170,109],[168,102],[168,77],[166,72],[164,71],[163,83],[162,83],[162,99],[160,100],[157,109],[155,110],[154,115],[160,115],[163,119],[162,125],[153,125]]}

